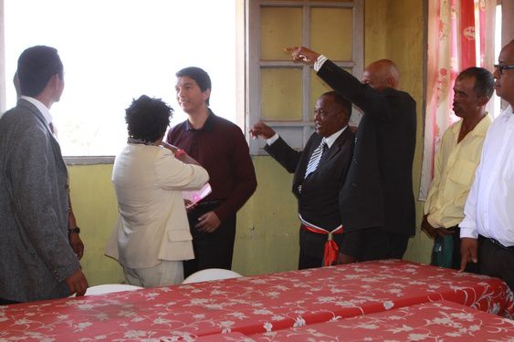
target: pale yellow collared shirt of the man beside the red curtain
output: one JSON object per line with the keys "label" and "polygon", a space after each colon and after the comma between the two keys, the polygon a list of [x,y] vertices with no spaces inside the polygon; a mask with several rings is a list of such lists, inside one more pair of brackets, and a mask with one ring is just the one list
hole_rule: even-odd
{"label": "pale yellow collared shirt of the man beside the red curtain", "polygon": [[449,228],[464,218],[464,205],[475,170],[480,161],[482,145],[491,124],[488,115],[475,129],[457,143],[462,119],[446,130],[435,153],[434,179],[425,202],[425,214],[433,227]]}

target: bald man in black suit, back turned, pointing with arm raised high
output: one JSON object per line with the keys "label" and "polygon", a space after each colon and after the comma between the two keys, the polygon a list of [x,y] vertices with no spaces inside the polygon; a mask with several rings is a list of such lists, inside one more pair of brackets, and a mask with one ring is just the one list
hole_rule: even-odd
{"label": "bald man in black suit, back turned, pointing with arm raised high", "polygon": [[362,109],[350,170],[340,193],[347,260],[402,258],[415,233],[412,165],[415,101],[397,89],[391,60],[364,70],[362,83],[306,47],[288,47],[293,60],[314,63],[318,76]]}

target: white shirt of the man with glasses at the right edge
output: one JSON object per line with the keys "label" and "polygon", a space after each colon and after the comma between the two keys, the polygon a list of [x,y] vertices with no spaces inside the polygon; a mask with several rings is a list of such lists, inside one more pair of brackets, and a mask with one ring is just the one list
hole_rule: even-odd
{"label": "white shirt of the man with glasses at the right edge", "polygon": [[460,237],[477,235],[514,245],[514,113],[509,106],[491,124],[467,197]]}

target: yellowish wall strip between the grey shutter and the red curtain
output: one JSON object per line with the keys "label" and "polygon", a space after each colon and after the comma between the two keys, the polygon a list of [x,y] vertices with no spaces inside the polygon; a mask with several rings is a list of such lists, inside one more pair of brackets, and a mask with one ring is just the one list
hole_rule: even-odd
{"label": "yellowish wall strip between the grey shutter and the red curtain", "polygon": [[[423,118],[425,115],[423,84],[426,53],[424,46],[424,2],[422,0],[365,1],[365,62],[392,59],[400,71],[400,89],[416,101],[417,130],[413,163],[414,198],[419,192],[423,152]],[[434,240],[420,232],[425,202],[416,201],[416,234],[410,239],[404,259],[430,262]]]}

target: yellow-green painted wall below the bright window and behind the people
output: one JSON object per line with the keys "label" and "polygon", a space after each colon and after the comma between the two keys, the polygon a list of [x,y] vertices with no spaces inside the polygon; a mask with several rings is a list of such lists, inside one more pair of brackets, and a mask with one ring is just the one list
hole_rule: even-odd
{"label": "yellow-green painted wall below the bright window and behind the people", "polygon": [[[365,1],[365,64],[379,58],[393,59],[402,74],[401,88],[417,102],[418,129],[414,159],[414,195],[421,172],[423,109],[423,0]],[[295,269],[298,262],[299,220],[291,193],[292,176],[270,157],[253,158],[257,192],[237,215],[233,268],[242,275]],[[112,165],[70,166],[71,197],[81,237],[86,244],[82,259],[89,285],[119,283],[118,263],[103,255],[117,216],[110,183]],[[416,203],[417,222],[423,203]],[[418,224],[419,226],[419,224]],[[427,262],[431,240],[425,233],[411,239],[405,257]]]}

